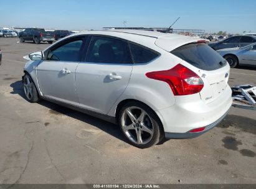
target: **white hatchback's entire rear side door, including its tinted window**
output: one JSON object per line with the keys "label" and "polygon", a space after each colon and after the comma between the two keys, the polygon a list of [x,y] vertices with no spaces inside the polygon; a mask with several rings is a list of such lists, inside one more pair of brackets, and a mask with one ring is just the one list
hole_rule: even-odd
{"label": "white hatchback's entire rear side door, including its tinted window", "polygon": [[132,65],[125,40],[93,36],[86,60],[79,63],[75,73],[81,108],[107,114],[125,91]]}

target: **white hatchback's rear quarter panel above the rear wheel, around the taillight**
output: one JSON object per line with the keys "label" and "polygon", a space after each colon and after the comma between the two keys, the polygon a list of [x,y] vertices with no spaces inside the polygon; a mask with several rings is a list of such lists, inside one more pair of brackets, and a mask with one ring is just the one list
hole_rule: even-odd
{"label": "white hatchback's rear quarter panel above the rear wheel, around the taillight", "polygon": [[168,83],[148,78],[145,74],[150,71],[169,70],[181,60],[171,53],[159,48],[161,55],[148,63],[135,64],[130,82],[120,98],[108,112],[115,116],[116,107],[125,99],[135,99],[147,104],[151,109],[163,109],[175,104],[173,91]]}

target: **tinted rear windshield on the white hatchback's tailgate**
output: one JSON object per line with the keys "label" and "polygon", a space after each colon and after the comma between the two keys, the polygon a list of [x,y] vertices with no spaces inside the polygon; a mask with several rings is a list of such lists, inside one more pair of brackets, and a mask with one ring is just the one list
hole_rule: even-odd
{"label": "tinted rear windshield on the white hatchback's tailgate", "polygon": [[202,70],[217,70],[227,62],[207,44],[186,44],[171,51],[173,55]]}

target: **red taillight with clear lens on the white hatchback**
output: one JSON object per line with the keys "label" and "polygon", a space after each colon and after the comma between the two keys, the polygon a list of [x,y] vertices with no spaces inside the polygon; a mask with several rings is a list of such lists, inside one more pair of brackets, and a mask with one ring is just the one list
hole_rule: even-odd
{"label": "red taillight with clear lens on the white hatchback", "polygon": [[146,76],[168,83],[176,96],[199,93],[204,87],[202,79],[194,71],[181,64],[170,70],[148,72]]}

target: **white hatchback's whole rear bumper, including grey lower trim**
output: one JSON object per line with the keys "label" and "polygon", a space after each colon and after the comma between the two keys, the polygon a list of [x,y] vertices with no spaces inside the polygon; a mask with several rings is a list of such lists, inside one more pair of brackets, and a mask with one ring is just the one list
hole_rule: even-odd
{"label": "white hatchback's whole rear bumper, including grey lower trim", "polygon": [[[229,86],[219,98],[204,103],[200,94],[176,97],[176,104],[156,111],[166,137],[184,139],[196,137],[216,126],[228,113],[232,105],[232,91]],[[202,132],[190,133],[192,129],[206,127]]]}

